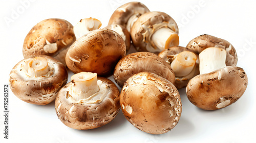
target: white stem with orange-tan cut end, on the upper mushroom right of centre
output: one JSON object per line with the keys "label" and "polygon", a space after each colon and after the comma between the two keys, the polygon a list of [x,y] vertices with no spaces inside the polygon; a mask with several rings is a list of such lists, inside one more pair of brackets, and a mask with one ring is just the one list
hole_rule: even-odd
{"label": "white stem with orange-tan cut end, on the upper mushroom right of centre", "polygon": [[152,35],[153,43],[161,50],[179,45],[179,36],[169,28],[160,28]]}

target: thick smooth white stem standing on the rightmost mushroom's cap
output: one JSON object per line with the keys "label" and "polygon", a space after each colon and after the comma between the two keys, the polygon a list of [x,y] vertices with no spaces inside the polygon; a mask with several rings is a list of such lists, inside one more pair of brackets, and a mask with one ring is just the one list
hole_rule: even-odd
{"label": "thick smooth white stem standing on the rightmost mushroom's cap", "polygon": [[219,47],[208,47],[199,54],[200,74],[210,73],[211,71],[226,66],[226,51]]}

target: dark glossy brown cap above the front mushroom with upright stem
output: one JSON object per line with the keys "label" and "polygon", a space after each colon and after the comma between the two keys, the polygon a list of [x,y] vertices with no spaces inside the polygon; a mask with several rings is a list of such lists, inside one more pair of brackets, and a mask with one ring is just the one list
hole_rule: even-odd
{"label": "dark glossy brown cap above the front mushroom with upright stem", "polygon": [[107,76],[112,74],[116,63],[125,55],[125,43],[117,32],[97,29],[71,45],[66,55],[66,63],[75,74],[87,71]]}

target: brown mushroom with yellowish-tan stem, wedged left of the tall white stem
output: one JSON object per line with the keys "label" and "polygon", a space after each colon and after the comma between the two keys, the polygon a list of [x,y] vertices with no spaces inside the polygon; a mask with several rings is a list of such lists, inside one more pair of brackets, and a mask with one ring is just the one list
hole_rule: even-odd
{"label": "brown mushroom with yellowish-tan stem, wedged left of the tall white stem", "polygon": [[165,49],[158,54],[174,71],[175,87],[180,89],[187,86],[193,77],[199,75],[198,55],[182,46],[174,46]]}

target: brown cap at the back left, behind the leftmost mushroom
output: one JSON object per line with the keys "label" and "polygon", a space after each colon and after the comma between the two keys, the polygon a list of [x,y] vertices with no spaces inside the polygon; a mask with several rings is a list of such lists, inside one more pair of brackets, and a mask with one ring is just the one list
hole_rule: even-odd
{"label": "brown cap at the back left, behind the leftmost mushroom", "polygon": [[64,19],[50,18],[37,23],[23,43],[24,58],[47,55],[65,64],[69,46],[76,40],[72,24]]}

